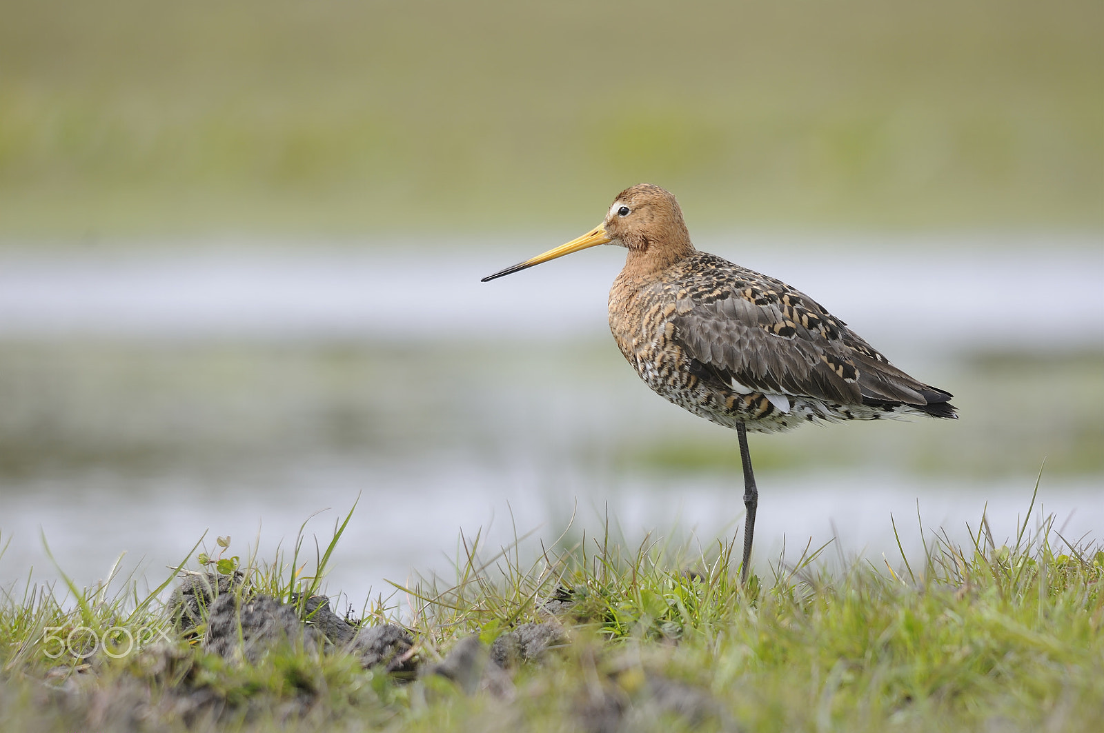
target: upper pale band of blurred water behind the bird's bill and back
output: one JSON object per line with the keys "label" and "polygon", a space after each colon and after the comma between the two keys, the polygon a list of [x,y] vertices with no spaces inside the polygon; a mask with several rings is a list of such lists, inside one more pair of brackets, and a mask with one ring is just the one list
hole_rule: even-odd
{"label": "upper pale band of blurred water behind the bird's bill and back", "polygon": [[[1104,342],[1093,237],[707,240],[701,248],[805,290],[875,343],[1034,349]],[[0,336],[578,338],[605,332],[624,259],[601,247],[479,283],[554,240],[374,251],[0,256]]]}

